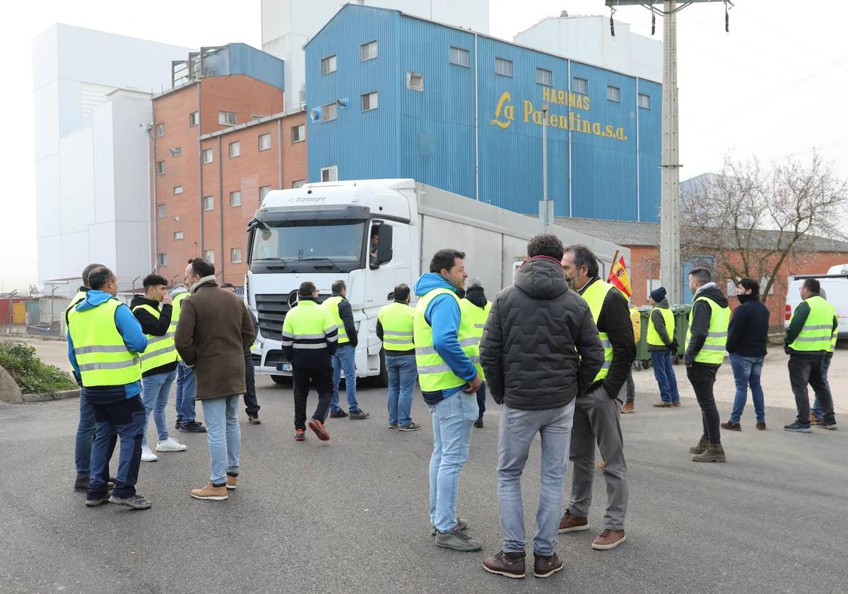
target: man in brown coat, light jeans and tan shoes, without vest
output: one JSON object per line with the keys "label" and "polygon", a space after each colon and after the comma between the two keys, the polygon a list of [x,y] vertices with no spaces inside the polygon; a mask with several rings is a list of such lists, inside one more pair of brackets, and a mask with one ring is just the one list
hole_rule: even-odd
{"label": "man in brown coat, light jeans and tan shoes, without vest", "polygon": [[182,302],[176,350],[194,371],[197,400],[204,407],[212,476],[192,489],[197,499],[226,499],[236,488],[241,430],[238,401],[244,393],[244,350],[254,339],[248,308],[236,294],[215,283],[215,266],[202,258],[188,261],[186,285],[192,298]]}

